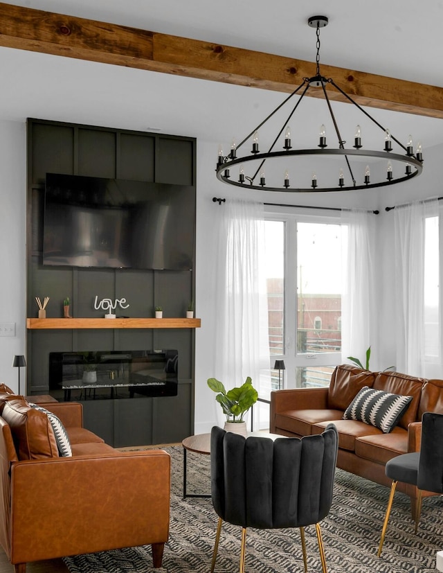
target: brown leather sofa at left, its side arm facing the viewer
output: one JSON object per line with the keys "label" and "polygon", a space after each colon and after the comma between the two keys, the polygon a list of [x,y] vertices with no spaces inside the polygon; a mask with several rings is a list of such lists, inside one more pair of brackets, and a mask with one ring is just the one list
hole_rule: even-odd
{"label": "brown leather sofa at left, its side arm facing the viewer", "polygon": [[[40,404],[39,404],[40,405]],[[41,404],[62,421],[71,457],[60,457],[48,415],[0,385],[0,543],[15,565],[168,541],[170,455],[119,452],[82,427],[82,405]]]}

